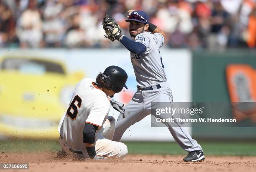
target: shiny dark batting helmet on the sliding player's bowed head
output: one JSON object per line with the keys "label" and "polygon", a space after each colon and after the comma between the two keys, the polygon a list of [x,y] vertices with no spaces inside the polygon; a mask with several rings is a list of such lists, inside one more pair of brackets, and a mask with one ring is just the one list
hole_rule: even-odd
{"label": "shiny dark batting helmet on the sliding player's bowed head", "polygon": [[111,86],[111,89],[114,92],[122,91],[123,87],[128,89],[125,85],[128,76],[125,70],[123,70],[121,67],[109,66],[102,73],[102,76],[104,77],[102,79]]}

